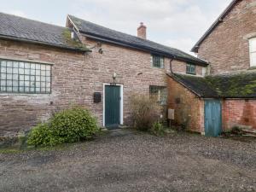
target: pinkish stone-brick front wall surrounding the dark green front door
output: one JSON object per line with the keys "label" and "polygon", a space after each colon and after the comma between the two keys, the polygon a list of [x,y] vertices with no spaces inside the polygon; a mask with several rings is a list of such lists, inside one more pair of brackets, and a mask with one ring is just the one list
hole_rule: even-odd
{"label": "pinkish stone-brick front wall surrounding the dark green front door", "polygon": [[[89,47],[96,45],[89,39],[85,43]],[[0,93],[1,135],[28,130],[32,125],[49,119],[55,111],[74,104],[90,108],[102,125],[103,103],[94,103],[93,93],[103,94],[103,84],[113,82],[113,72],[118,75],[116,83],[124,85],[124,124],[127,124],[129,96],[135,92],[148,94],[149,85],[166,86],[166,73],[170,72],[168,58],[165,59],[165,69],[154,68],[151,67],[150,54],[112,44],[101,44],[84,55],[65,49],[0,40],[1,56],[53,64],[51,94]]]}

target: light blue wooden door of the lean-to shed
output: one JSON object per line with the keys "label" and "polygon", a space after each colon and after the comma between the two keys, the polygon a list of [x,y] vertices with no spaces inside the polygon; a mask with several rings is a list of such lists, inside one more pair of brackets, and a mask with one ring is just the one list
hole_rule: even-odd
{"label": "light blue wooden door of the lean-to shed", "polygon": [[207,137],[218,137],[222,127],[222,109],[219,100],[205,101],[205,133]]}

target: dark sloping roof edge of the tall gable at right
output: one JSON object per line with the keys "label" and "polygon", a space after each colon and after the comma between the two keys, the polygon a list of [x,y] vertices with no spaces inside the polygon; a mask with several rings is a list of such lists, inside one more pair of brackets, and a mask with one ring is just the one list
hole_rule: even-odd
{"label": "dark sloping roof edge of the tall gable at right", "polygon": [[241,0],[233,0],[230,5],[224,9],[224,12],[218,16],[218,19],[214,21],[212,26],[204,33],[204,35],[199,39],[199,41],[194,45],[191,51],[197,53],[201,43],[212,33],[212,31],[218,26],[219,23],[223,22],[224,17],[230,13],[230,11],[235,7],[236,3]]}

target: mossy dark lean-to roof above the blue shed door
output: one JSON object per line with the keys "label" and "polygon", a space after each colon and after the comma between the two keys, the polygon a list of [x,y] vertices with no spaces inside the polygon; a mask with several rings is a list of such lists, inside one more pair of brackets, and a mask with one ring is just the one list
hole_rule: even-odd
{"label": "mossy dark lean-to roof above the blue shed door", "polygon": [[176,73],[171,77],[200,97],[256,98],[255,71],[206,78]]}

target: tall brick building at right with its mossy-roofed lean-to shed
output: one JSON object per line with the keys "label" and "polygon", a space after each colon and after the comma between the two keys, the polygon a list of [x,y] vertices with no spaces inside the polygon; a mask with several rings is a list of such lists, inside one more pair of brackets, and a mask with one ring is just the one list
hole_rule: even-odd
{"label": "tall brick building at right with its mossy-roofed lean-to shed", "polygon": [[175,123],[209,136],[256,129],[256,2],[232,1],[192,51],[209,63],[207,77],[170,74]]}

